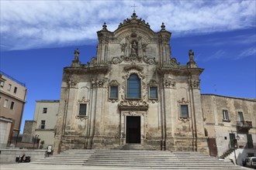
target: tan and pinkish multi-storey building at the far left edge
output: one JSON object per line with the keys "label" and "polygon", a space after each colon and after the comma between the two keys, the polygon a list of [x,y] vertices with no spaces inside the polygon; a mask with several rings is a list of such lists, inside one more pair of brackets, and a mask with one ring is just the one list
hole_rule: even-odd
{"label": "tan and pinkish multi-storey building at the far left edge", "polygon": [[[22,121],[24,106],[26,104],[26,85],[19,82],[12,76],[0,72],[0,112],[1,112],[1,128],[6,129],[5,133],[1,133],[1,145],[5,148],[8,134],[8,141],[12,137],[18,136]],[[11,123],[11,125],[10,125]],[[10,129],[9,129],[10,127]],[[2,130],[1,130],[2,131]],[[9,131],[9,132],[8,132]],[[4,135],[5,137],[3,137]]]}

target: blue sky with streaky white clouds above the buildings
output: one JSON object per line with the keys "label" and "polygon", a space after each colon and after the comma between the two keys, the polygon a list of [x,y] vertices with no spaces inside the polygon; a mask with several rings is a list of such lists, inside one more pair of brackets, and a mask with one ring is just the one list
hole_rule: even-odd
{"label": "blue sky with streaky white clouds above the buildings", "polygon": [[[96,56],[103,22],[114,31],[138,18],[154,32],[172,32],[171,56],[185,64],[189,49],[204,68],[202,93],[256,98],[256,2],[247,1],[5,1],[1,4],[0,70],[26,83],[23,123],[36,100],[59,100],[64,66],[74,49],[86,63]],[[22,123],[22,126],[23,126]]]}

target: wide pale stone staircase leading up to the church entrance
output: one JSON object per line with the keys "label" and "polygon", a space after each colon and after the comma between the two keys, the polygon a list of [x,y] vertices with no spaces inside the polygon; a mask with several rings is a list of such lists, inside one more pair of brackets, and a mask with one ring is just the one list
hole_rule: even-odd
{"label": "wide pale stone staircase leading up to the church entrance", "polygon": [[85,165],[154,169],[242,169],[231,162],[194,151],[156,151],[142,145],[123,145],[109,150],[68,150],[33,164]]}

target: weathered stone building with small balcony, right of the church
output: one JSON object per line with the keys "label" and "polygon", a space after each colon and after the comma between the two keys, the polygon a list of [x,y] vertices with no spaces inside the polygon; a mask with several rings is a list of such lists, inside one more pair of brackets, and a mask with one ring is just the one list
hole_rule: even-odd
{"label": "weathered stone building with small balcony, right of the church", "polygon": [[216,155],[239,148],[236,154],[240,164],[242,158],[256,156],[256,100],[202,94],[201,101],[206,136],[216,141]]}

